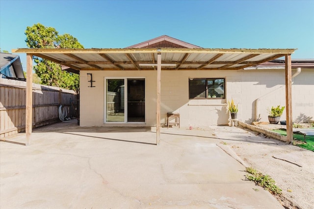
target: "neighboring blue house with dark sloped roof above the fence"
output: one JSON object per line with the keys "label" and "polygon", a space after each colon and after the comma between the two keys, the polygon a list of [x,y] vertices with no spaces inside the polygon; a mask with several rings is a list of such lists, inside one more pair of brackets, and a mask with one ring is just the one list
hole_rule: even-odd
{"label": "neighboring blue house with dark sloped roof above the fence", "polygon": [[4,78],[25,79],[20,56],[0,52],[0,74]]}

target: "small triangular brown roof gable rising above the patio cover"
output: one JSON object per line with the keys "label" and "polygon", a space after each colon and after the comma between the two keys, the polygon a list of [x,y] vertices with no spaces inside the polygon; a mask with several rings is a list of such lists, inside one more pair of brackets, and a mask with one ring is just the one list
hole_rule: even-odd
{"label": "small triangular brown roof gable rising above the patio cover", "polygon": [[172,38],[167,35],[162,35],[157,38],[150,39],[148,41],[141,42],[139,44],[126,47],[131,48],[188,48],[188,49],[203,49],[202,47],[189,44],[179,39]]}

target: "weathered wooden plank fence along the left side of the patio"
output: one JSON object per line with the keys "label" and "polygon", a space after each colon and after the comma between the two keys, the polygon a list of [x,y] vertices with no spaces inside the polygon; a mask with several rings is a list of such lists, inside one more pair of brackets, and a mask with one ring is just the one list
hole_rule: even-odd
{"label": "weathered wooden plank fence along the left side of the patio", "polygon": [[[70,110],[72,90],[33,83],[33,128],[59,121],[59,105]],[[26,82],[0,78],[0,138],[25,131]]]}

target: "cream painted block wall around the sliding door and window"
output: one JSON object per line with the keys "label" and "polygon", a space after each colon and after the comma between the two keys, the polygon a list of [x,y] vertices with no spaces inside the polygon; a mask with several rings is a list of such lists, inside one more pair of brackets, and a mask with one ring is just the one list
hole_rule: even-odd
{"label": "cream painted block wall around the sliding door and window", "polygon": [[[292,70],[294,73],[295,70]],[[90,83],[87,73],[93,74],[96,87]],[[105,77],[145,78],[146,126],[156,125],[157,71],[81,71],[80,74],[80,126],[126,126],[104,124]],[[179,112],[182,127],[204,127],[228,124],[227,100],[189,100],[188,78],[226,78],[227,100],[238,104],[238,118],[242,122],[255,120],[255,104],[258,103],[260,121],[268,121],[267,108],[286,105],[284,70],[242,71],[162,71],[161,73],[161,123],[166,123],[167,112]],[[293,120],[314,118],[314,71],[302,69],[293,79]],[[281,118],[286,119],[286,112]],[[128,124],[143,126],[143,124]]]}

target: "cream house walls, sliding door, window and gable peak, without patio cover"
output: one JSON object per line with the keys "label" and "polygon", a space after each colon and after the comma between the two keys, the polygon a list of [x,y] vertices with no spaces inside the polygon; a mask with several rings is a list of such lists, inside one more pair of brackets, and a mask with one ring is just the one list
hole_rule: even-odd
{"label": "cream house walls, sliding door, window and gable peak, without patio cover", "polygon": [[[163,46],[201,49],[168,36],[129,48]],[[301,67],[301,73],[293,78],[292,84],[293,121],[305,122],[314,118],[314,60],[306,66],[292,63],[292,74],[297,67]],[[167,123],[168,112],[176,112],[180,113],[181,127],[227,125],[230,123],[227,103],[231,99],[238,104],[240,121],[249,124],[253,121],[268,121],[267,108],[285,106],[286,94],[284,64],[266,64],[267,67],[264,64],[247,70],[230,71],[163,70],[160,123]],[[93,75],[94,88],[88,87],[89,73]],[[156,126],[156,79],[156,71],[81,72],[80,126]],[[111,83],[117,81],[121,82],[116,89],[120,95],[117,101],[121,101],[121,105],[113,102],[111,90],[108,90]],[[137,84],[133,85],[135,82]],[[113,103],[115,108],[112,107]],[[286,111],[281,119],[286,119]]]}

